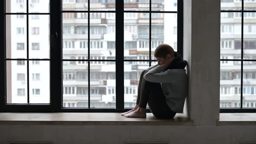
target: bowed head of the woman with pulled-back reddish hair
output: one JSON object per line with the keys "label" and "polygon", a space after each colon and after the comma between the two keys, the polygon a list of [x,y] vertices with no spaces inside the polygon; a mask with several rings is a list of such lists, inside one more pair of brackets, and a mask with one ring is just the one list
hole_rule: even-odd
{"label": "bowed head of the woman with pulled-back reddish hair", "polygon": [[174,59],[174,49],[167,44],[161,44],[155,49],[154,57],[158,60],[158,65],[163,65],[167,59]]}

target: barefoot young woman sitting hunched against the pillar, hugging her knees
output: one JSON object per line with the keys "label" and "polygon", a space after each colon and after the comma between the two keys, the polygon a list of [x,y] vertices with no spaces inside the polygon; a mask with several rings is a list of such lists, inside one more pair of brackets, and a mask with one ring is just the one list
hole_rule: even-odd
{"label": "barefoot young woman sitting hunched against the pillar, hugging her knees", "polygon": [[187,61],[174,49],[161,44],[154,51],[158,64],[141,72],[136,106],[121,115],[146,118],[146,106],[156,118],[173,118],[182,113],[188,91]]}

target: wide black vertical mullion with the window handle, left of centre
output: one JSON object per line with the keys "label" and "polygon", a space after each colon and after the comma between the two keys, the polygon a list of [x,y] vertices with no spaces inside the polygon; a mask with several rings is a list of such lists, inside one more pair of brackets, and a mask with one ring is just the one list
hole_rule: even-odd
{"label": "wide black vertical mullion with the window handle, left of centre", "polygon": [[62,108],[62,0],[50,0],[50,111]]}

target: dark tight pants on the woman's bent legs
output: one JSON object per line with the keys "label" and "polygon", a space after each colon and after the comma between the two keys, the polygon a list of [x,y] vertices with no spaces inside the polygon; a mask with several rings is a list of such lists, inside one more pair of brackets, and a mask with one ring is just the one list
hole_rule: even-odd
{"label": "dark tight pants on the woman's bent legs", "polygon": [[167,105],[160,83],[148,82],[143,78],[147,72],[148,70],[141,72],[136,104],[141,108],[146,108],[148,103],[150,111],[156,118],[173,118],[176,112]]}

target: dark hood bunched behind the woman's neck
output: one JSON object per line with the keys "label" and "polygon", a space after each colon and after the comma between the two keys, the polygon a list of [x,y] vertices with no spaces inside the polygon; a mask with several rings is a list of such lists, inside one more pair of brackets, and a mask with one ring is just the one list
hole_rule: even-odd
{"label": "dark hood bunched behind the woman's neck", "polygon": [[187,61],[183,60],[178,52],[174,52],[174,59],[168,69],[185,69],[187,66]]}

